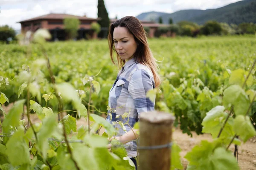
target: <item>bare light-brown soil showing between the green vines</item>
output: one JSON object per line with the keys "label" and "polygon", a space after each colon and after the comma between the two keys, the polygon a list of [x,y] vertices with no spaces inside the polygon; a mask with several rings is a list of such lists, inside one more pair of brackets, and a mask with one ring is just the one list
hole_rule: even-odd
{"label": "bare light-brown soil showing between the green vines", "polygon": [[[12,105],[13,104],[11,103],[7,107],[3,106],[4,111],[8,113]],[[26,110],[26,106],[24,106],[24,110]],[[31,114],[30,117],[32,123],[41,122],[36,114]],[[0,118],[3,122],[3,116],[0,116]],[[24,116],[24,119],[26,119],[27,122],[26,116]],[[77,127],[81,125],[86,126],[87,122],[85,121],[85,119],[82,118],[77,120],[76,124]],[[210,134],[197,135],[196,133],[192,132],[192,135],[193,137],[190,137],[187,134],[182,133],[182,130],[178,128],[175,129],[173,133],[173,140],[177,142],[182,150],[180,156],[182,157],[182,164],[184,170],[186,170],[186,166],[188,164],[188,161],[183,158],[186,153],[189,152],[196,144],[199,144],[201,140],[212,140]],[[234,151],[234,145],[230,146],[230,150]],[[238,163],[241,170],[256,170],[256,136],[249,139],[245,144],[241,144],[241,146],[239,146],[238,154]]]}

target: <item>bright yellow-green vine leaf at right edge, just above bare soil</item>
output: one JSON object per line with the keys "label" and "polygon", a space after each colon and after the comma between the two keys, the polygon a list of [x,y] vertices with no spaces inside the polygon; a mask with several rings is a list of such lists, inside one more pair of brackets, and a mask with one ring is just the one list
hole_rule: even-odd
{"label": "bright yellow-green vine leaf at right edge, just above bare soil", "polygon": [[239,138],[244,142],[246,142],[250,137],[256,135],[256,131],[248,116],[236,116],[234,121],[234,130],[236,134],[239,135]]}

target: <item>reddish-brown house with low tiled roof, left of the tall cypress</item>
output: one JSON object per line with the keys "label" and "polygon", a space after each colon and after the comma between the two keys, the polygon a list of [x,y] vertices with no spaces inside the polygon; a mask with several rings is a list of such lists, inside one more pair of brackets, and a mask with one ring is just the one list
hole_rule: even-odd
{"label": "reddish-brown house with low tiled roof, left of the tall cypress", "polygon": [[88,39],[89,37],[96,38],[96,34],[91,29],[91,24],[97,22],[99,18],[88,18],[86,16],[76,16],[70,14],[47,14],[39,17],[23,20],[17,23],[21,24],[21,32],[35,32],[39,28],[48,29],[54,40],[66,40],[67,34],[64,30],[64,19],[67,17],[75,17],[80,21],[77,39]]}

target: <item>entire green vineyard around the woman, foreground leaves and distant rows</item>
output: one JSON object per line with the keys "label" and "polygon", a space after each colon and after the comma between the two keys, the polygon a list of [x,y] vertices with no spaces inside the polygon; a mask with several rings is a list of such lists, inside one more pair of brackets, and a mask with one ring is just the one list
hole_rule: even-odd
{"label": "entire green vineyard around the woman, foreground leaves and distant rows", "polygon": [[[147,94],[156,95],[155,109],[174,114],[175,127],[189,136],[212,136],[186,154],[186,169],[239,170],[230,146],[256,136],[255,36],[160,38],[149,45],[162,78]],[[111,152],[105,147],[115,128],[102,117],[115,111],[108,93],[118,70],[107,40],[1,45],[0,169],[134,170],[121,143],[112,140]],[[87,125],[77,127],[81,118]],[[185,168],[180,151],[172,145],[172,170]]]}

